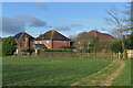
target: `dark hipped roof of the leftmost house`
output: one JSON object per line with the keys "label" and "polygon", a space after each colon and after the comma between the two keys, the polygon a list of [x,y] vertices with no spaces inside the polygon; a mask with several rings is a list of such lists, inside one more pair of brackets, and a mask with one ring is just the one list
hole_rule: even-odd
{"label": "dark hipped roof of the leftmost house", "polygon": [[34,37],[31,36],[30,34],[25,33],[25,32],[20,32],[20,33],[18,33],[18,34],[16,34],[16,35],[13,36],[13,38],[14,38],[16,41],[18,41],[18,40],[23,41],[23,40],[25,40],[25,38],[33,40]]}

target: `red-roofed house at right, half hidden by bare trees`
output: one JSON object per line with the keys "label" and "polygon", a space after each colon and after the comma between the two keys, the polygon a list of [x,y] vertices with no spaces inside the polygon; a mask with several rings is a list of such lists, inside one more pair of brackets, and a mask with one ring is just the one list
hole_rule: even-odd
{"label": "red-roofed house at right, half hidden by bare trees", "polygon": [[91,50],[92,47],[90,45],[91,43],[93,43],[94,40],[98,40],[99,42],[98,43],[99,48],[96,47],[96,50],[106,52],[109,48],[109,45],[116,38],[110,34],[101,33],[95,30],[92,30],[90,32],[83,32],[78,36],[75,41],[75,45],[76,45],[75,52],[81,50],[86,50],[86,48]]}

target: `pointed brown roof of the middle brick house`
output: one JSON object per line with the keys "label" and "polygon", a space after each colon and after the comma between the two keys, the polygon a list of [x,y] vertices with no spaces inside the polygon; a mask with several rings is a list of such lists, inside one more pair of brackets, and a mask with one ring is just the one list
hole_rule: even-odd
{"label": "pointed brown roof of the middle brick house", "polygon": [[41,41],[41,40],[70,41],[70,38],[65,37],[64,35],[57,32],[55,30],[50,30],[50,31],[45,32],[44,34],[41,34],[35,40],[37,41]]}

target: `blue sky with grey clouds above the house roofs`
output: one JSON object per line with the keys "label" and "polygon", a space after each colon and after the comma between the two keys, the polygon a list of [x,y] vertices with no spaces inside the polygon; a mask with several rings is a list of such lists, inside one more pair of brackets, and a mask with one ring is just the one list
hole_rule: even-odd
{"label": "blue sky with grey clouds above the house roofs", "polygon": [[37,37],[49,30],[70,36],[91,30],[111,29],[105,10],[122,9],[123,2],[3,2],[2,36],[25,31]]}

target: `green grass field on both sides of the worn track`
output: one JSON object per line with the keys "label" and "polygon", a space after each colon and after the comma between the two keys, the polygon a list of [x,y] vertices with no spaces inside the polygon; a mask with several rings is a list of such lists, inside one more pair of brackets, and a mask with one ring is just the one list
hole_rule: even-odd
{"label": "green grass field on both sides of the worn track", "polygon": [[[130,61],[113,85],[130,86]],[[112,59],[3,57],[3,86],[70,86],[112,63]],[[125,76],[125,77],[123,77]],[[121,79],[126,79],[126,82]]]}

